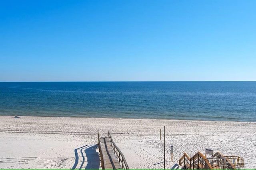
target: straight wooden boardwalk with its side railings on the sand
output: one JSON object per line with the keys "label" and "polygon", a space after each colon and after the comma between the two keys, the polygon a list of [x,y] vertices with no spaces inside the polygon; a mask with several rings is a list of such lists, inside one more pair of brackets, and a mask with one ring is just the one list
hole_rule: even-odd
{"label": "straight wooden boardwalk with its side railings on the sand", "polygon": [[114,143],[110,132],[107,137],[100,137],[98,131],[98,145],[100,150],[100,161],[102,169],[129,169],[124,155]]}

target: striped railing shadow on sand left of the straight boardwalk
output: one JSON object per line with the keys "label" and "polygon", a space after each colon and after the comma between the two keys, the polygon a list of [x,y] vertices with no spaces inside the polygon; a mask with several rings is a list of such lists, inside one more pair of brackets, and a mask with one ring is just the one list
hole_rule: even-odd
{"label": "striped railing shadow on sand left of the straight boardwalk", "polygon": [[[96,149],[98,149],[98,145],[85,145],[83,147],[75,149],[75,163],[71,168],[75,169],[99,169],[100,168],[100,156]],[[87,158],[87,164],[85,161]]]}

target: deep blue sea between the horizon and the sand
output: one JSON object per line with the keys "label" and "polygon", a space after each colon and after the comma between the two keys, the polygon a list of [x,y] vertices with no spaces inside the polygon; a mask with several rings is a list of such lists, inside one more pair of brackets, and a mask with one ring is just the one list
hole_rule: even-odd
{"label": "deep blue sea between the horizon and the sand", "polygon": [[256,82],[0,82],[0,115],[256,122]]}

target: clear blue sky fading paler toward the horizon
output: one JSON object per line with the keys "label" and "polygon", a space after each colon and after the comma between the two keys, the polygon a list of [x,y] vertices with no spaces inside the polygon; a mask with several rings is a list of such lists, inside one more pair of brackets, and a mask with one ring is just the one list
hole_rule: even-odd
{"label": "clear blue sky fading paler toward the horizon", "polygon": [[0,81],[256,80],[256,0],[0,0]]}

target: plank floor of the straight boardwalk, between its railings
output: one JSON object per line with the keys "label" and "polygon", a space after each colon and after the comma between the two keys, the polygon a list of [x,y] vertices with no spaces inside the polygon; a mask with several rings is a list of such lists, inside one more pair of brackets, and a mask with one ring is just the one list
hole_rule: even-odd
{"label": "plank floor of the straight boardwalk, between its railings", "polygon": [[104,168],[113,170],[122,169],[122,166],[113,151],[109,138],[102,137],[100,138],[100,142],[102,144],[102,154],[104,155]]}

